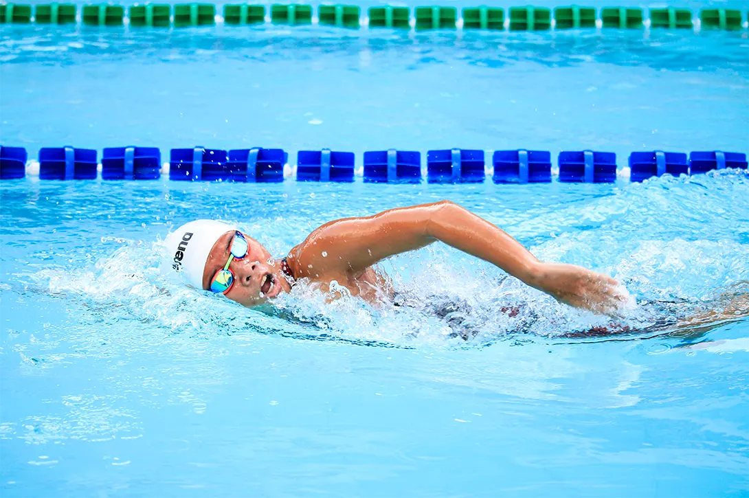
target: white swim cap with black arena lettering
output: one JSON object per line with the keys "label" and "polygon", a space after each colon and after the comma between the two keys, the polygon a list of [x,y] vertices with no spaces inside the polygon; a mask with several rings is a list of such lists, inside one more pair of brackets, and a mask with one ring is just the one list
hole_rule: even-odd
{"label": "white swim cap with black arena lettering", "polygon": [[213,219],[185,223],[166,237],[166,254],[172,269],[181,273],[190,285],[203,288],[203,271],[216,240],[237,228]]}

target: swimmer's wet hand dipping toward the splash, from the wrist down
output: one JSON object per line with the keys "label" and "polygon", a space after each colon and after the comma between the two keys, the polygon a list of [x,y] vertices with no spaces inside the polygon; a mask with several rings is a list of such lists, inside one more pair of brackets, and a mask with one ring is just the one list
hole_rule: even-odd
{"label": "swimmer's wet hand dipping toward the splash, from the wrist down", "polygon": [[575,308],[616,316],[629,300],[625,288],[610,276],[574,264],[539,262],[532,273],[527,283]]}

